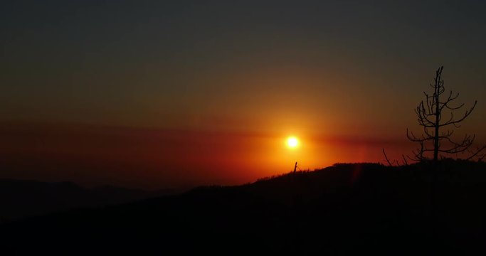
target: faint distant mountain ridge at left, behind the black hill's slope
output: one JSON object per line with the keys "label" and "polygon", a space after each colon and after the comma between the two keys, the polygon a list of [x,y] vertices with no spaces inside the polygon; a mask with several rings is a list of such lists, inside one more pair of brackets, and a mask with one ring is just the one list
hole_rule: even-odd
{"label": "faint distant mountain ridge at left, behind the black hill's slope", "polygon": [[115,186],[83,188],[71,182],[47,183],[0,179],[0,223],[73,208],[128,203],[174,193]]}

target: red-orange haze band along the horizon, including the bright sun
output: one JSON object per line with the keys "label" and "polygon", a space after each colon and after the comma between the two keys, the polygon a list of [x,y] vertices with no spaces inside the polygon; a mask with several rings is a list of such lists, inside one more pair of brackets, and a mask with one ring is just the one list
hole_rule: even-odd
{"label": "red-orange haze band along the horizon, including the bright sun", "polygon": [[0,154],[4,156],[0,160],[9,167],[4,176],[70,180],[89,186],[236,185],[293,171],[296,161],[300,170],[313,170],[337,162],[381,161],[384,145],[390,157],[410,150],[407,142],[331,137],[287,127],[280,132],[243,133],[16,125],[19,128],[11,129],[0,124]]}

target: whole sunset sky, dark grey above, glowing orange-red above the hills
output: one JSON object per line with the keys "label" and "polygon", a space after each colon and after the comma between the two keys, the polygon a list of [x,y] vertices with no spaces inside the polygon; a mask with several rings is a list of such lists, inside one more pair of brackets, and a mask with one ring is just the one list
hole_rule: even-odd
{"label": "whole sunset sky, dark grey above, glowing orange-red above the hills", "polygon": [[[238,184],[382,162],[435,70],[486,142],[484,1],[1,1],[0,178]],[[300,138],[288,149],[285,138]]]}

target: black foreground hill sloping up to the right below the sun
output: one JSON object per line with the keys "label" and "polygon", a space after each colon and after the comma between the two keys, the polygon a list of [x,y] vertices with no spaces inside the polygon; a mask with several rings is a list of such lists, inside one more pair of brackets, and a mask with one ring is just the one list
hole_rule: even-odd
{"label": "black foreground hill sloping up to the right below the sun", "polygon": [[486,165],[337,164],[244,186],[28,218],[1,250],[73,254],[486,252]]}

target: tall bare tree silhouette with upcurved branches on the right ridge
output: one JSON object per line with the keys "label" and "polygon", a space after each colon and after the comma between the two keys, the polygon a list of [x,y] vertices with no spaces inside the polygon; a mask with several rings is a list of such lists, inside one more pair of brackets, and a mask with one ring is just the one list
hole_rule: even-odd
{"label": "tall bare tree silhouette with upcurved branches on the right ridge", "polygon": [[433,88],[432,94],[423,92],[426,99],[421,101],[415,110],[418,124],[423,128],[423,134],[416,136],[407,129],[407,138],[419,144],[418,148],[413,150],[413,156],[408,156],[408,159],[413,161],[432,160],[435,162],[439,156],[444,157],[448,154],[469,152],[470,156],[466,159],[477,157],[479,160],[482,160],[485,157],[485,154],[482,154],[482,150],[486,146],[470,150],[475,134],[465,134],[463,139],[459,141],[452,139],[453,128],[460,127],[460,123],[466,117],[469,117],[477,104],[477,100],[464,114],[460,117],[455,117],[455,111],[463,108],[464,103],[453,105],[454,100],[459,97],[459,93],[454,94],[452,90],[444,95],[444,81],[441,78],[443,68],[442,66],[435,71],[434,83],[430,84],[430,87]]}

